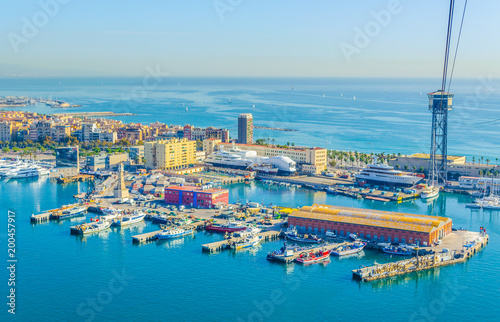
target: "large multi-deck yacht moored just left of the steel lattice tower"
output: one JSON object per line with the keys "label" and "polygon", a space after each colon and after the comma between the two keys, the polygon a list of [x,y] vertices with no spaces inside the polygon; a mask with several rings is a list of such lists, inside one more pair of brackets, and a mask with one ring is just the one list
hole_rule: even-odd
{"label": "large multi-deck yacht moored just left of the steel lattice tower", "polygon": [[401,186],[413,186],[423,178],[414,176],[407,172],[394,170],[394,167],[377,164],[377,157],[373,157],[373,163],[354,175],[357,180],[366,180],[372,183],[382,183]]}

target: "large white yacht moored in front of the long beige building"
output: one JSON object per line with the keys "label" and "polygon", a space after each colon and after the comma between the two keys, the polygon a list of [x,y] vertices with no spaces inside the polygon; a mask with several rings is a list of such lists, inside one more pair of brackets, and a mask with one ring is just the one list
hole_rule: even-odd
{"label": "large white yacht moored in front of the long beige building", "polygon": [[255,151],[241,150],[234,146],[213,152],[205,162],[219,167],[254,170],[268,174],[288,175],[297,171],[296,162],[289,157],[261,157],[257,156]]}

